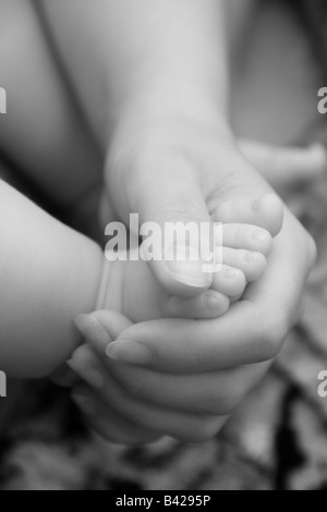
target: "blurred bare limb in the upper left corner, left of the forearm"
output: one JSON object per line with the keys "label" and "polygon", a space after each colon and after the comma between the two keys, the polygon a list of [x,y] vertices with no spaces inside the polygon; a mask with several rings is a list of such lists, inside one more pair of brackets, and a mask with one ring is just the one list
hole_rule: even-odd
{"label": "blurred bare limb in the upper left corner, left of the forearm", "polygon": [[51,199],[68,206],[100,180],[101,156],[29,0],[0,0],[0,148]]}

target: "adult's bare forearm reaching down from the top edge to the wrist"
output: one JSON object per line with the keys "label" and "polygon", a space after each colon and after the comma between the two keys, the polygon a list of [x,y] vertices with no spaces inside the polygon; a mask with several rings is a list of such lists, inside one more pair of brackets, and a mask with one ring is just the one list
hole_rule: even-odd
{"label": "adult's bare forearm reaching down from the top edge to the wrist", "polygon": [[223,3],[43,1],[66,68],[106,148],[108,126],[133,115],[171,112],[226,119]]}

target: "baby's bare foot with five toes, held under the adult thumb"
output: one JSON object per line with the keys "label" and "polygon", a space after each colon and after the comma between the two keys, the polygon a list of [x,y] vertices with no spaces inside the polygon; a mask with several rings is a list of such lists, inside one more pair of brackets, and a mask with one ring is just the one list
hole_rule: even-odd
{"label": "baby's bare foot with five toes, held under the adult thumb", "polygon": [[[222,265],[208,275],[206,288],[194,287],[189,296],[168,295],[140,258],[137,248],[128,261],[106,264],[113,268],[109,268],[109,288],[98,308],[119,310],[135,322],[161,317],[216,318],[227,313],[230,303],[242,296],[246,284],[264,273],[271,235],[281,228],[282,205],[270,194],[259,199],[231,200],[217,209],[215,219],[227,219],[229,223],[222,225]],[[180,266],[197,266],[193,261],[175,264],[177,273]]]}

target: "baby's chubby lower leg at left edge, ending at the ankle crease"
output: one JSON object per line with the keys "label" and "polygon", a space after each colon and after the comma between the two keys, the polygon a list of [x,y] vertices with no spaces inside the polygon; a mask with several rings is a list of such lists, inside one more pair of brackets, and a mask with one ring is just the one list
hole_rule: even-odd
{"label": "baby's chubby lower leg at left edge, ending at the ankle crease", "polygon": [[95,307],[100,248],[0,182],[0,367],[51,374],[81,342],[73,318]]}

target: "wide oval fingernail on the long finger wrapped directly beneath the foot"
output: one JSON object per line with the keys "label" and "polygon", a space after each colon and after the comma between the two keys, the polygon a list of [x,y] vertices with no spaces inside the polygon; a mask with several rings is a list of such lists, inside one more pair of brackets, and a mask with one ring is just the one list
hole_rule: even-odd
{"label": "wide oval fingernail on the long finger wrapped directly beneath the foot", "polygon": [[121,361],[131,365],[149,366],[154,363],[153,352],[143,343],[131,341],[114,341],[106,349],[110,359]]}

